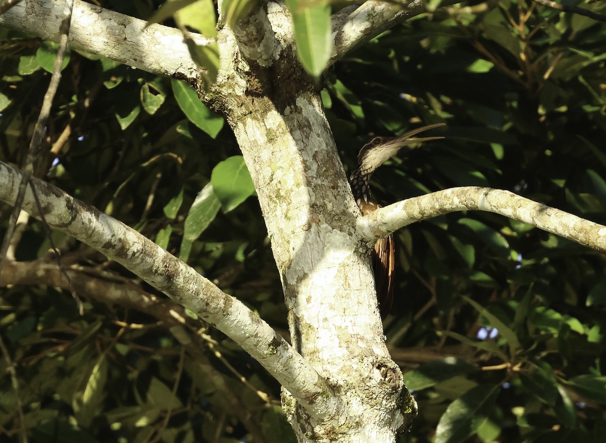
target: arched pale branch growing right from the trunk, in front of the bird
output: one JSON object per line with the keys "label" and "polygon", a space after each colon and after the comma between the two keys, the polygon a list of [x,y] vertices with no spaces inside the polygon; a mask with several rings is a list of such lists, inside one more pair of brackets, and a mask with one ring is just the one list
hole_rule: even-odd
{"label": "arched pale branch growing right from the trunk, in front of the bird", "polygon": [[368,245],[411,223],[455,211],[487,211],[528,223],[573,242],[606,252],[606,226],[502,189],[465,186],[408,198],[359,218]]}

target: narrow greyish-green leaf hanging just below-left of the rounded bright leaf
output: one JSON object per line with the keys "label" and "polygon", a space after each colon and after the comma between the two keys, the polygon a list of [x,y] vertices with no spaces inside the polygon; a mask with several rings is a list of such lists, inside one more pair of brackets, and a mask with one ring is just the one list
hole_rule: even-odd
{"label": "narrow greyish-green leaf hanging just below-left of the rounded bright leaf", "polygon": [[190,211],[185,218],[183,240],[181,241],[181,252],[179,259],[187,262],[189,258],[191,245],[198,240],[198,237],[204,232],[208,225],[215,220],[216,215],[221,208],[221,202],[216,196],[213,185],[208,183],[194,200]]}

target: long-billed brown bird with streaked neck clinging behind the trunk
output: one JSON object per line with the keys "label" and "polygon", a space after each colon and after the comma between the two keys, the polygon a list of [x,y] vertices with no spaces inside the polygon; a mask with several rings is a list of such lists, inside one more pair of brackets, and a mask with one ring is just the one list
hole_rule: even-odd
{"label": "long-billed brown bird with streaked neck clinging behind the trunk", "polygon": [[[417,129],[409,130],[398,137],[375,137],[362,146],[358,154],[358,165],[351,172],[349,183],[353,197],[358,203],[362,215],[370,214],[381,208],[375,201],[368,188],[370,176],[385,161],[396,155],[401,147],[408,144],[420,143],[422,141],[439,140],[444,137],[421,137],[412,138],[419,132],[444,126],[444,123],[429,124]],[[376,242],[375,249],[371,251],[373,271],[375,272],[375,285],[377,299],[379,301],[379,312],[384,319],[391,309],[393,302],[393,270],[395,268],[395,251],[393,234],[381,238]]]}

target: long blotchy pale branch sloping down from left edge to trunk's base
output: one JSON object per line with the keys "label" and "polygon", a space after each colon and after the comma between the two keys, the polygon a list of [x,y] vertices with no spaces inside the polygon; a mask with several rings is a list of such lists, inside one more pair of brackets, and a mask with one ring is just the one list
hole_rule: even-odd
{"label": "long blotchy pale branch sloping down from left edge to trunk's base", "polygon": [[[13,205],[21,174],[0,161],[0,200]],[[326,380],[244,303],[229,296],[148,238],[65,192],[32,178],[48,225],[78,238],[206,320],[255,358],[319,419],[338,407]],[[38,218],[31,189],[24,211]],[[319,402],[318,397],[325,401]]]}

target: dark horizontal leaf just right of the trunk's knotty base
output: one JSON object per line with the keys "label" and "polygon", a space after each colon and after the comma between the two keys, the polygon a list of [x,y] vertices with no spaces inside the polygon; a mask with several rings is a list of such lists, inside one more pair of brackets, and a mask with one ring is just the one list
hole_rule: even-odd
{"label": "dark horizontal leaf just right of the trunk's knotty base", "polygon": [[403,374],[404,384],[409,390],[420,391],[451,377],[470,373],[475,370],[476,368],[465,360],[446,357],[443,360],[434,360],[433,362],[422,364],[418,368]]}

